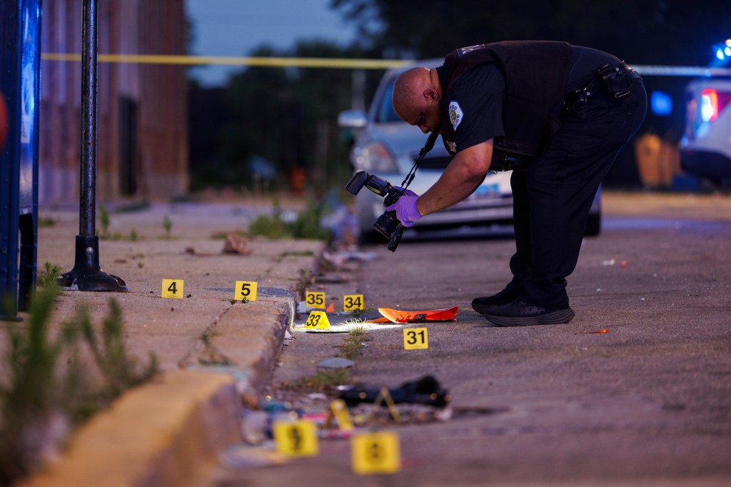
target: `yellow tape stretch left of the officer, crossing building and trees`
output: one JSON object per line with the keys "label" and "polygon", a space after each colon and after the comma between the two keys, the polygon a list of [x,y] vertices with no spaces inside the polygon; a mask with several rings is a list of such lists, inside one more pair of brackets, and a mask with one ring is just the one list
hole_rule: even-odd
{"label": "yellow tape stretch left of the officer, crossing building and trees", "polygon": [[[75,53],[42,53],[43,61],[81,61]],[[99,54],[100,63],[228,65],[258,67],[312,67],[335,69],[389,69],[402,67],[414,61],[398,59],[343,59],[343,58],[266,58],[224,56],[162,56],[146,54]]]}

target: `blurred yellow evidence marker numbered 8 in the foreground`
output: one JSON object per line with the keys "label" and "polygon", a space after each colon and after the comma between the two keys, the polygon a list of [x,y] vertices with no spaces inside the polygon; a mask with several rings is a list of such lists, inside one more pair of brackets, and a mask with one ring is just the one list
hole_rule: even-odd
{"label": "blurred yellow evidence marker numbered 8 in the foreground", "polygon": [[393,474],[401,469],[401,445],[392,431],[356,434],[350,440],[350,455],[358,475]]}

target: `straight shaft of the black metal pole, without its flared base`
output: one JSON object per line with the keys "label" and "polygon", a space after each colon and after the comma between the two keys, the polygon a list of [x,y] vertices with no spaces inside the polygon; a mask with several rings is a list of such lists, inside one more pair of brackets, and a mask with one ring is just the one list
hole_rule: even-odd
{"label": "straight shaft of the black metal pole, without its flared base", "polygon": [[84,0],[81,33],[81,178],[79,184],[79,235],[96,234],[96,7]]}

